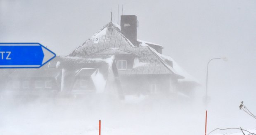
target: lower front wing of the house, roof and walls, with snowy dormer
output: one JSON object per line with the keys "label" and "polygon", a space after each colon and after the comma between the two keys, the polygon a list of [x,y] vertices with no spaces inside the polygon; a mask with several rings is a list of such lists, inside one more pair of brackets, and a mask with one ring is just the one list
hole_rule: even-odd
{"label": "lower front wing of the house, roof and walls, with snowy dormer", "polygon": [[113,55],[58,57],[51,64],[62,69],[62,93],[108,93],[120,98],[123,96]]}

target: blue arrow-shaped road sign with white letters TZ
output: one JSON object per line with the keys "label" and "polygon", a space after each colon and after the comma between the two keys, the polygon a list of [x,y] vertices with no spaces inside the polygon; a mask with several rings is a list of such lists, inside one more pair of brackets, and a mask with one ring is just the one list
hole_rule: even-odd
{"label": "blue arrow-shaped road sign with white letters TZ", "polygon": [[55,56],[40,43],[0,43],[0,68],[39,68]]}

